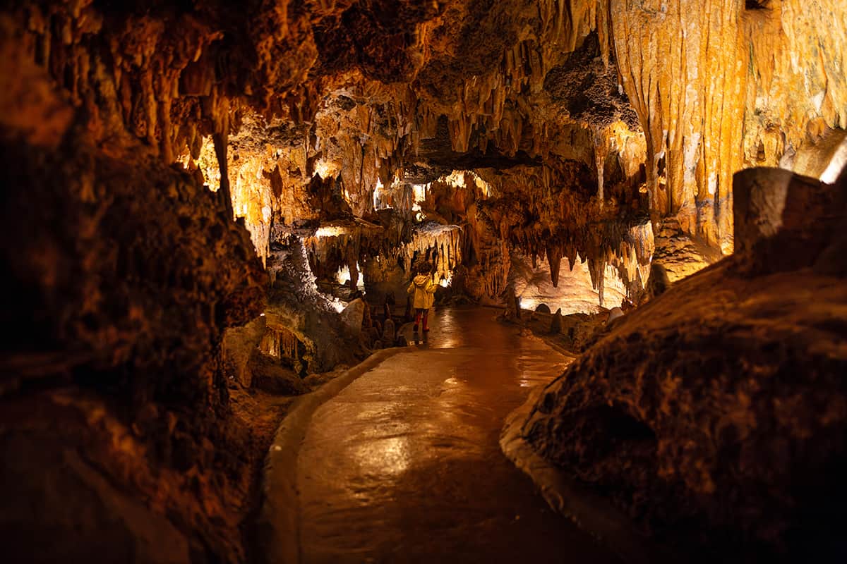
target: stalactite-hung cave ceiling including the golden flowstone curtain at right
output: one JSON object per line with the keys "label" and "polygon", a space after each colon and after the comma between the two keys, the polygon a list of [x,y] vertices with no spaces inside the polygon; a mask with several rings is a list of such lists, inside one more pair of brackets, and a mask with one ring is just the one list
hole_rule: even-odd
{"label": "stalactite-hung cave ceiling including the golden flowstone curtain at right", "polygon": [[92,144],[223,188],[261,256],[273,225],[373,219],[380,190],[473,171],[506,199],[480,210],[520,211],[486,216],[510,244],[606,260],[648,219],[731,252],[734,172],[822,172],[847,40],[821,18],[839,0],[75,0],[2,25],[11,71],[58,84]]}

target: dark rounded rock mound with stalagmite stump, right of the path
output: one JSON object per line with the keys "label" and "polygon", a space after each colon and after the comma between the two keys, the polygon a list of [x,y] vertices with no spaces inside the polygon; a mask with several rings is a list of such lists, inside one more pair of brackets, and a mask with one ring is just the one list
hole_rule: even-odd
{"label": "dark rounded rock mound with stalagmite stump, right of the path", "polygon": [[[770,191],[735,202],[736,224],[759,232],[739,230],[734,256],[616,320],[523,435],[691,556],[843,556],[847,284],[816,269],[843,238],[845,180],[739,173],[735,194]],[[777,216],[741,205],[785,194]]]}

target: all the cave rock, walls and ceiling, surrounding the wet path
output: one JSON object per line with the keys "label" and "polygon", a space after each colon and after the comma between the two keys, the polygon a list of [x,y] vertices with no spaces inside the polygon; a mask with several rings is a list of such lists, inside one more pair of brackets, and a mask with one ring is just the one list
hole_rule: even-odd
{"label": "all the cave rock, walls and ceiling, surrounding the wet path", "polygon": [[645,537],[847,557],[843,0],[12,0],[0,30],[10,561],[261,561],[280,420],[407,346],[424,262],[436,309],[573,352],[521,433]]}

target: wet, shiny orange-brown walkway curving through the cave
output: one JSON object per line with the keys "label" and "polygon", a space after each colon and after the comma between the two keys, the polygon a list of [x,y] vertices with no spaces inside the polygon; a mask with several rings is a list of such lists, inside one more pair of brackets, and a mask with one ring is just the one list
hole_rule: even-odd
{"label": "wet, shiny orange-brown walkway curving through the cave", "polygon": [[617,561],[501,453],[507,413],[572,359],[496,313],[434,310],[427,342],[314,413],[297,461],[302,561]]}

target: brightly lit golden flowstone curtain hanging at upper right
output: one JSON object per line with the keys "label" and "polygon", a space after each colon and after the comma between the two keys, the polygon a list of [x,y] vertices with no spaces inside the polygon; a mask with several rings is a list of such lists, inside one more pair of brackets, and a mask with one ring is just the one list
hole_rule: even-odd
{"label": "brightly lit golden flowstone curtain hanging at upper right", "polygon": [[608,7],[621,83],[647,140],[651,210],[731,252],[733,173],[777,166],[828,129],[845,129],[844,4]]}

